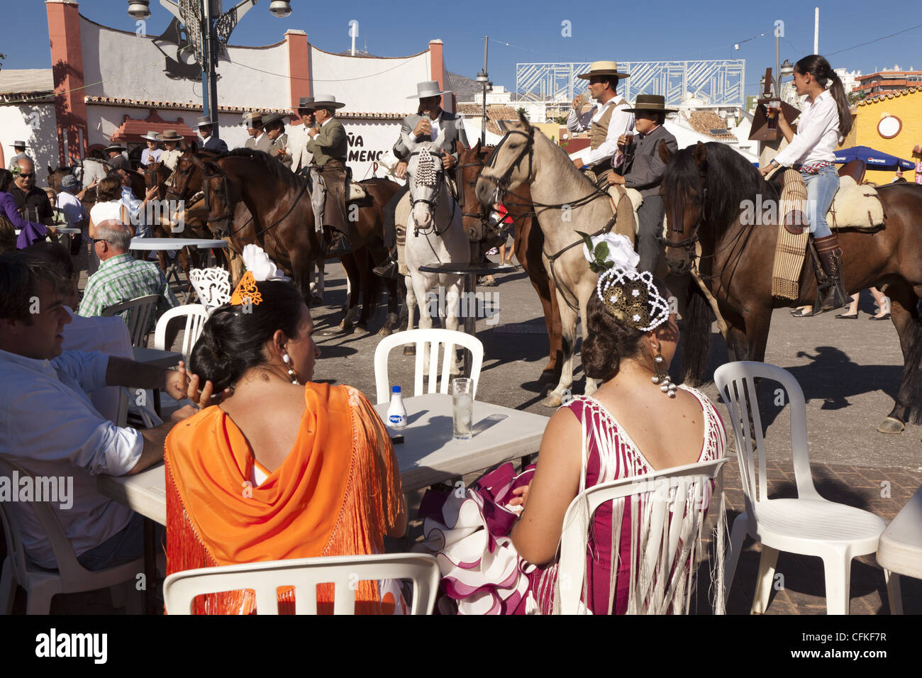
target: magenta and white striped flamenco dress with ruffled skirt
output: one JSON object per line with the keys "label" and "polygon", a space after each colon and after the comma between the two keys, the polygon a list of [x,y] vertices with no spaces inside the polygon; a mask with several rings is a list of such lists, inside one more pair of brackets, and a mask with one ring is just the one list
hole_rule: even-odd
{"label": "magenta and white striped flamenco dress with ruffled skirt", "polygon": [[[701,403],[704,435],[698,461],[722,458],[727,433],[711,401],[703,393],[681,387]],[[603,482],[643,476],[653,468],[644,454],[595,398],[574,398],[564,407],[582,422],[585,435],[580,492]],[[509,534],[517,513],[508,506],[516,487],[531,482],[535,467],[515,475],[511,463],[484,474],[465,492],[429,492],[420,504],[425,541],[417,550],[434,553],[442,569],[443,597],[439,610],[462,614],[550,613],[557,578],[556,563],[538,567],[516,553]],[[705,507],[707,504],[705,503]],[[627,610],[630,582],[631,519],[625,505],[616,590],[611,595],[613,504],[599,506],[586,548],[585,607],[596,614]]]}

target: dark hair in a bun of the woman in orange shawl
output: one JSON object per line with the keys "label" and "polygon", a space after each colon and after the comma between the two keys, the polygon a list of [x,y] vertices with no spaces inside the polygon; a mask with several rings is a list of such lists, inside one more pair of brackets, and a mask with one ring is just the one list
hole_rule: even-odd
{"label": "dark hair in a bun of the woman in orange shawl", "polygon": [[210,380],[216,393],[236,383],[251,367],[266,363],[263,349],[276,330],[288,337],[297,333],[304,303],[301,293],[278,280],[257,282],[256,289],[263,298],[260,303],[225,303],[208,316],[189,357],[189,369],[203,384]]}

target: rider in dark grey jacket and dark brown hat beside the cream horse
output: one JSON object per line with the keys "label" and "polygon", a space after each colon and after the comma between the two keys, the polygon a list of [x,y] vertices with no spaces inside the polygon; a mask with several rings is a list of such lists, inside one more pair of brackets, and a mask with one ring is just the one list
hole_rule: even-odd
{"label": "rider in dark grey jacket and dark brown hat beside the cream horse", "polygon": [[666,173],[666,163],[659,157],[659,142],[665,141],[670,153],[679,149],[676,137],[664,127],[666,113],[676,109],[667,108],[666,100],[658,94],[638,94],[633,108],[636,135],[628,143],[627,137],[618,137],[621,162],[609,174],[609,184],[621,184],[640,191],[644,204],[637,208],[637,254],[640,255],[638,269],[656,274],[659,262],[659,233],[663,228],[666,207],[659,195],[659,184]]}

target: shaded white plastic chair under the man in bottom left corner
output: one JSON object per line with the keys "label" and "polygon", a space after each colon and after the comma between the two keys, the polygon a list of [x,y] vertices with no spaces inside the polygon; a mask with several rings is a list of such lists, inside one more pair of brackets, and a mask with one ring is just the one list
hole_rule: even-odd
{"label": "shaded white plastic chair under the man in bottom left corner", "polygon": [[[19,477],[32,474],[8,458],[0,458],[0,472],[9,476],[18,470]],[[56,570],[47,570],[32,563],[22,546],[22,536],[11,502],[0,502],[0,520],[6,535],[6,560],[0,575],[0,612],[10,614],[16,597],[16,585],[26,589],[26,614],[48,614],[53,597],[58,593],[78,593],[124,585],[123,590],[113,589],[112,600],[124,600],[129,613],[141,613],[141,601],[135,590],[137,574],[144,572],[144,558],[106,570],[91,572],[77,561],[64,529],[46,502],[30,502],[51,543]],[[131,595],[124,596],[129,592]]]}

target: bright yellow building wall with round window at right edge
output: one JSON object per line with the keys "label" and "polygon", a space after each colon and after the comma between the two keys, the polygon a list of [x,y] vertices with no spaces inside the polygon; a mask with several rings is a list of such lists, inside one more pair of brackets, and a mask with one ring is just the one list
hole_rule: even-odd
{"label": "bright yellow building wall with round window at right edge", "polygon": [[[913,157],[913,147],[922,144],[922,89],[905,91],[902,95],[893,95],[892,99],[882,101],[861,101],[854,109],[855,128],[843,144],[844,148],[867,146],[874,150],[890,153],[907,161],[917,161]],[[900,133],[892,139],[885,139],[877,131],[884,113],[895,115],[903,122]],[[888,184],[895,172],[887,170],[868,170],[865,181],[875,184]],[[904,170],[906,181],[915,181],[916,172]]]}

